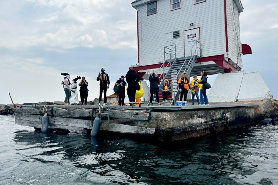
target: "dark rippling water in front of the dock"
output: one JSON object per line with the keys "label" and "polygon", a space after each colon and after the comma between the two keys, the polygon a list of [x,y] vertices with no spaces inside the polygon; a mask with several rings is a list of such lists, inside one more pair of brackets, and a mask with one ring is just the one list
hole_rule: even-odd
{"label": "dark rippling water in front of the dock", "polygon": [[[278,185],[278,127],[183,142],[42,134],[0,116],[0,184]],[[121,134],[119,134],[121,135]]]}

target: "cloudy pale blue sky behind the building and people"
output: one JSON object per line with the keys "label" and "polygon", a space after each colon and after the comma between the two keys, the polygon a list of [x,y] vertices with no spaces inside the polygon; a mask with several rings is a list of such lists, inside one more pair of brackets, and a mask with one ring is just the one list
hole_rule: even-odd
{"label": "cloudy pale blue sky behind the building and people", "polygon": [[[70,80],[84,76],[88,100],[94,100],[99,96],[96,77],[101,67],[109,74],[111,95],[116,80],[138,60],[136,10],[131,2],[1,0],[0,104],[11,104],[9,91],[14,103],[63,101],[61,72],[69,73]],[[242,5],[241,43],[253,51],[242,56],[243,70],[259,71],[278,98],[278,1],[242,0]]]}

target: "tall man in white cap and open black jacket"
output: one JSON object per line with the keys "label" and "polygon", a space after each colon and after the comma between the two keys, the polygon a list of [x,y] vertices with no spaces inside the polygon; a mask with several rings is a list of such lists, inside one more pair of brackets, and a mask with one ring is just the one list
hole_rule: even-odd
{"label": "tall man in white cap and open black jacket", "polygon": [[100,81],[100,83],[99,83],[99,104],[98,104],[98,106],[100,106],[102,92],[104,94],[104,103],[103,103],[103,105],[107,105],[106,92],[107,92],[107,89],[109,88],[109,84],[110,84],[109,76],[108,76],[107,73],[104,72],[105,68],[102,67],[100,70],[101,70],[101,73],[98,73],[98,77],[96,78],[96,81]]}

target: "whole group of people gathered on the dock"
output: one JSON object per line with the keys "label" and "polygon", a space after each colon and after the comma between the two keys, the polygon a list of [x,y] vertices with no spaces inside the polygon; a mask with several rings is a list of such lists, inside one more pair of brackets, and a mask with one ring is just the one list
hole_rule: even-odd
{"label": "whole group of people gathered on the dock", "polygon": [[[101,105],[101,99],[102,95],[104,95],[104,103],[103,105],[107,105],[107,96],[106,92],[110,85],[109,75],[105,73],[105,68],[102,67],[100,69],[100,73],[98,73],[98,77],[96,78],[97,81],[99,81],[99,106]],[[65,103],[64,105],[71,105],[70,103],[70,97],[74,97],[76,99],[77,97],[77,80],[81,79],[81,77],[77,77],[73,79],[72,83],[70,83],[69,78],[70,75],[68,73],[61,73],[61,75],[65,75],[64,81],[62,82],[64,86],[64,92],[65,92]],[[126,82],[125,82],[126,78]],[[117,94],[119,97],[118,100],[118,106],[125,106],[124,99],[125,99],[125,86],[128,85],[127,88],[127,96],[129,98],[129,102],[135,102],[136,97],[136,90],[140,89],[140,85],[138,82],[140,82],[140,75],[138,75],[132,67],[129,67],[129,70],[127,74],[124,76],[122,75],[115,83],[116,86],[118,86]],[[151,69],[149,72],[149,82],[150,82],[150,106],[152,106],[152,100],[153,95],[155,94],[157,97],[157,103],[158,106],[160,106],[159,101],[159,83],[160,80],[158,78],[158,75],[156,73],[155,69]],[[80,98],[81,98],[81,105],[87,105],[87,97],[88,97],[88,82],[85,79],[85,77],[82,77],[81,82],[79,82],[78,86],[80,86]],[[198,105],[209,105],[209,100],[206,95],[206,89],[211,88],[211,85],[207,82],[207,73],[206,71],[201,72],[201,78],[197,79],[197,75],[193,76],[193,80],[190,82],[187,78],[187,73],[183,72],[180,75],[180,78],[178,80],[178,88],[180,92],[180,101],[184,99],[186,101],[187,93],[191,93],[192,95],[192,104],[195,105],[195,96],[197,98]],[[73,90],[74,89],[74,90]],[[200,89],[200,90],[199,90]],[[71,91],[74,92],[73,95],[71,94]],[[168,79],[165,79],[162,84],[162,97],[163,102],[168,102],[168,96],[171,95],[171,92],[173,91],[173,87]],[[199,96],[200,91],[200,96]],[[200,97],[200,98],[199,98]],[[78,97],[77,97],[78,101]],[[79,103],[79,102],[78,102]]]}

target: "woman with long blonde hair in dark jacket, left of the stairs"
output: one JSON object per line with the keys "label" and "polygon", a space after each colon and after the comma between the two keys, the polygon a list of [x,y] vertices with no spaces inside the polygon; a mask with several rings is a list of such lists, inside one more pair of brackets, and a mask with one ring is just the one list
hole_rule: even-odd
{"label": "woman with long blonde hair in dark jacket, left of the stairs", "polygon": [[157,99],[157,105],[161,105],[159,103],[159,97],[158,97],[158,91],[159,91],[159,87],[158,87],[158,84],[159,84],[159,79],[158,79],[158,76],[156,74],[156,70],[155,69],[152,69],[150,71],[150,75],[149,75],[149,81],[150,81],[150,91],[151,91],[151,97],[150,97],[150,106],[152,106],[152,101],[153,101],[153,94],[156,94],[156,99]]}

